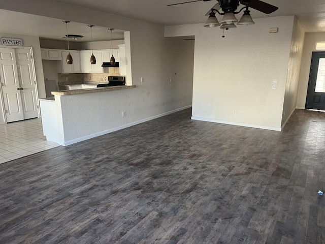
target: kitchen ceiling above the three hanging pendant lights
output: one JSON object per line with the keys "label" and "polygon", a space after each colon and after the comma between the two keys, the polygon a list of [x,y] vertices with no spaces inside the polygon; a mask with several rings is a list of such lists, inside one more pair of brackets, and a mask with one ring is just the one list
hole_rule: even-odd
{"label": "kitchen ceiling above the three hanging pendant lights", "polygon": [[[15,21],[8,21],[15,19]],[[91,24],[91,23],[89,23]],[[112,26],[113,28],[113,26]],[[38,36],[41,39],[66,40],[66,24],[61,19],[43,17],[0,9],[0,29],[2,33]],[[90,42],[90,27],[87,24],[70,22],[69,34],[81,35],[83,38],[77,42]],[[114,29],[113,40],[123,40],[124,31]],[[102,26],[92,27],[93,41],[111,40],[111,32]]]}

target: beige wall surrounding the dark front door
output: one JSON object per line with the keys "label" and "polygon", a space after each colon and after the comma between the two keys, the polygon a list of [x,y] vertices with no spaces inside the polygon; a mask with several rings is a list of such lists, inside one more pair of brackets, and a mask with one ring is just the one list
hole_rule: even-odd
{"label": "beige wall surrounding the dark front door", "polygon": [[301,60],[298,98],[297,98],[297,108],[300,109],[305,109],[309,71],[310,71],[310,64],[311,64],[311,55],[312,52],[316,51],[315,50],[316,42],[325,42],[325,32],[305,34],[305,42],[304,42],[303,55]]}

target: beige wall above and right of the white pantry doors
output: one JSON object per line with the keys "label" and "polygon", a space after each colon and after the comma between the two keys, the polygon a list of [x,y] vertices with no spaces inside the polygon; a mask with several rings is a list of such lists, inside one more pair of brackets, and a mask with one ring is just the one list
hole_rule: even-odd
{"label": "beige wall above and right of the white pantry doors", "polygon": [[[34,64],[35,64],[35,72],[36,72],[36,81],[38,88],[39,98],[45,98],[45,84],[44,84],[44,75],[42,68],[42,58],[41,58],[41,49],[40,49],[40,40],[39,37],[34,36],[26,36],[26,35],[16,35],[16,34],[7,34],[0,33],[0,37],[12,37],[12,38],[20,38],[23,40],[24,47],[32,47],[32,52],[34,54]],[[2,46],[1,47],[6,47]],[[0,96],[2,96],[0,94]],[[0,118],[3,120],[3,114],[0,111]],[[4,123],[4,121],[0,120],[0,124]]]}

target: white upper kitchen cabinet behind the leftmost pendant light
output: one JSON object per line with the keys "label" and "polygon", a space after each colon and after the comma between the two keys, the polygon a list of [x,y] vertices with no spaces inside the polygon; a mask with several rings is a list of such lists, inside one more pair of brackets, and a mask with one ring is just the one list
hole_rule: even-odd
{"label": "white upper kitchen cabinet behind the leftmost pendant light", "polygon": [[58,62],[57,72],[58,73],[81,73],[80,65],[80,51],[70,50],[72,56],[72,65],[67,64],[67,55],[69,54],[68,50],[62,51],[62,61]]}

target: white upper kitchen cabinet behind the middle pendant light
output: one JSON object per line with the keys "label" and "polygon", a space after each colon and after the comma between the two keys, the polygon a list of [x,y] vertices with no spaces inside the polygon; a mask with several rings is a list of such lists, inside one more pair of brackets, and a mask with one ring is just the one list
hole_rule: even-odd
{"label": "white upper kitchen cabinet behind the middle pendant light", "polygon": [[90,63],[92,51],[85,50],[80,51],[80,59],[81,59],[81,73],[104,73],[102,64],[102,51],[93,51],[93,55],[96,58],[96,64],[92,65]]}

